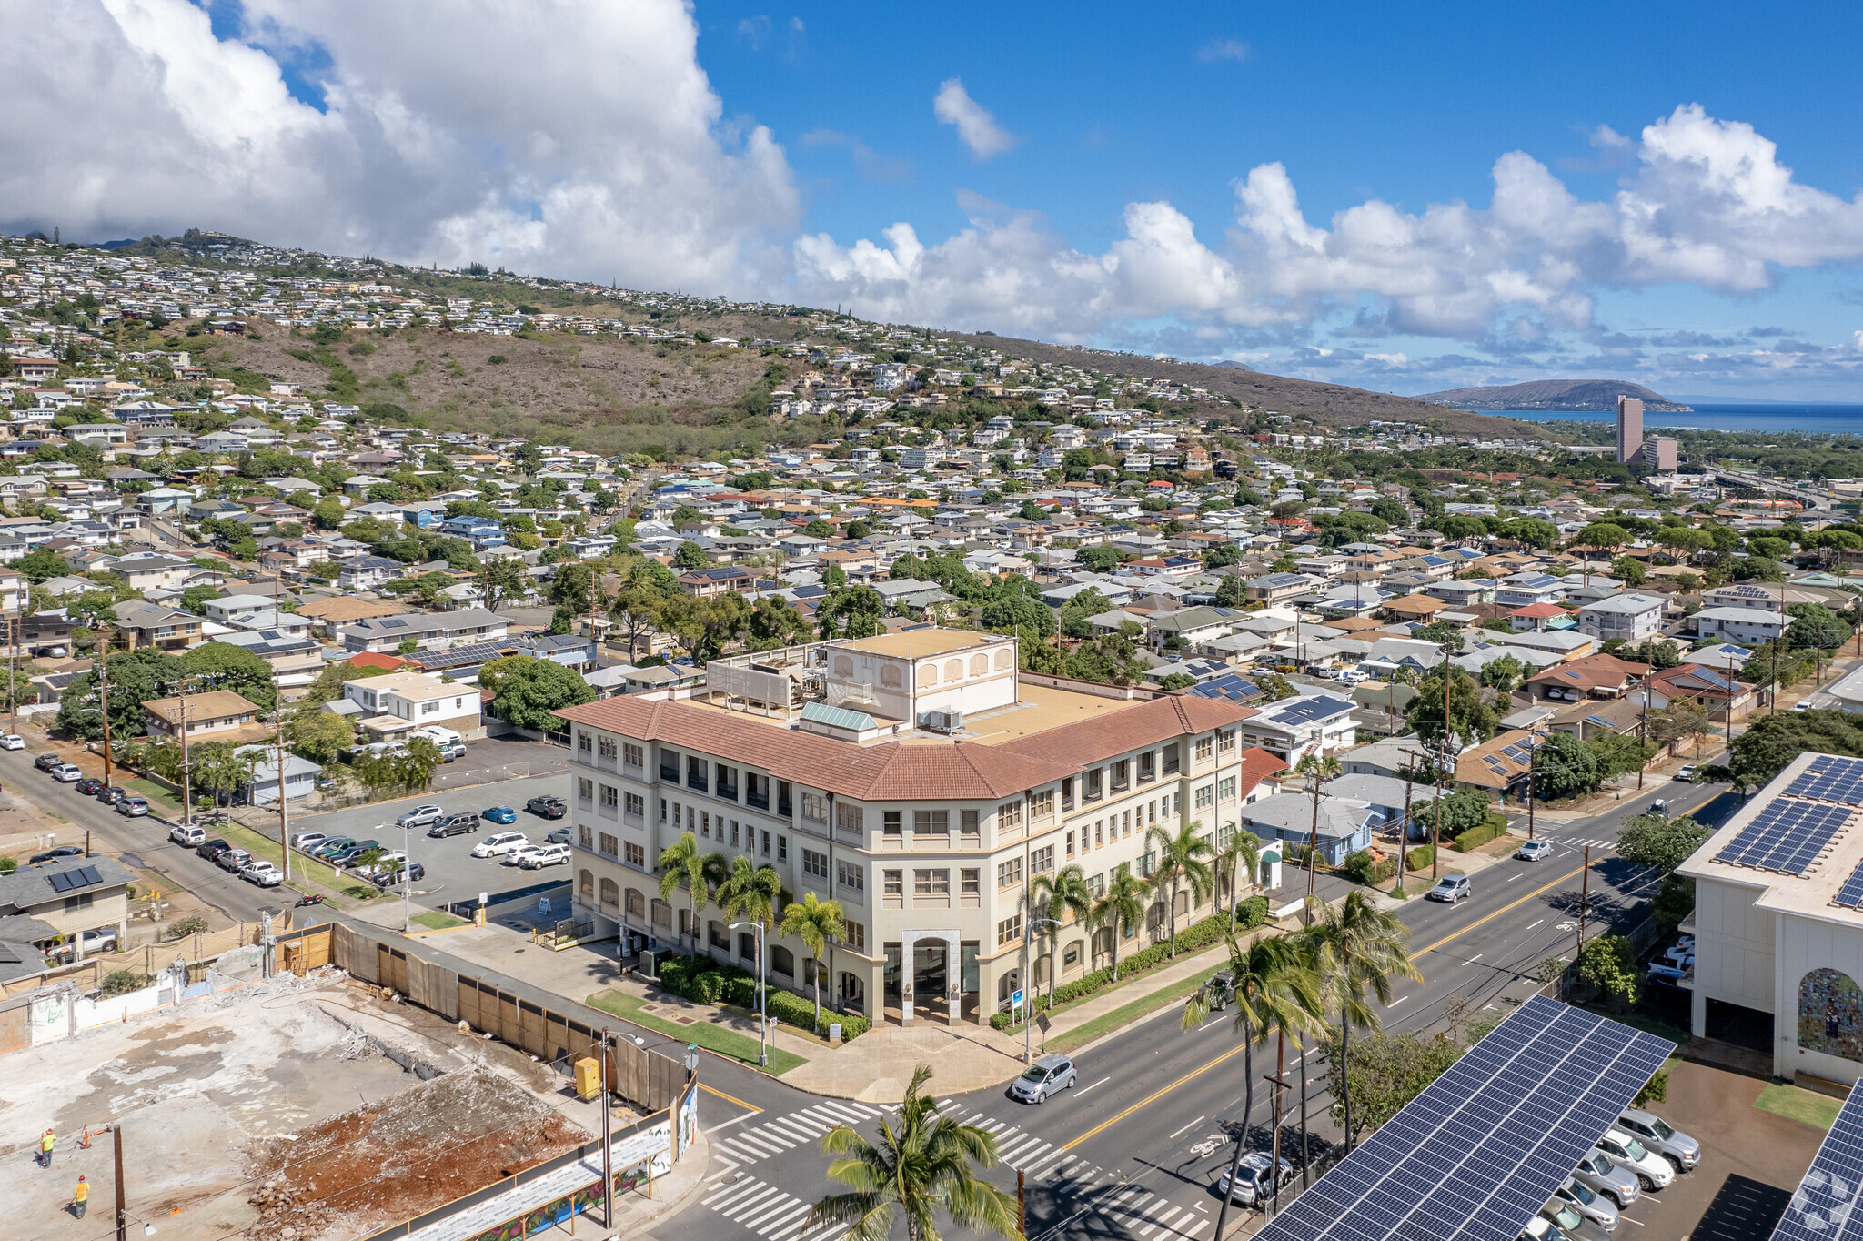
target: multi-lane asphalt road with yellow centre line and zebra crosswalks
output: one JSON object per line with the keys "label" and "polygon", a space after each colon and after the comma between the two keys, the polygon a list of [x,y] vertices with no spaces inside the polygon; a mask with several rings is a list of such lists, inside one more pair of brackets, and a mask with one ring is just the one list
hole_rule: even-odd
{"label": "multi-lane asphalt road with yellow centre line and zebra crosswalks", "polygon": [[[1671,812],[1712,805],[1705,814],[1723,822],[1738,801],[1718,798],[1721,788],[1651,783],[1641,796],[1626,796],[1606,814],[1576,824],[1541,820],[1539,835],[1556,842],[1550,857],[1526,863],[1505,859],[1481,870],[1470,900],[1457,906],[1412,900],[1401,917],[1412,932],[1412,956],[1421,982],[1395,986],[1384,1010],[1388,1030],[1425,1030],[1442,1023],[1442,1004],[1451,995],[1472,997],[1474,1008],[1492,1008],[1509,984],[1533,976],[1548,956],[1569,952],[1578,932],[1578,907],[1589,842],[1591,872],[1585,934],[1626,930],[1645,917],[1654,881],[1611,855],[1623,822],[1649,809],[1656,798]],[[1516,988],[1518,993],[1518,988]],[[1075,1090],[1040,1107],[1012,1101],[1002,1088],[943,1098],[948,1116],[991,1129],[1004,1166],[993,1180],[1015,1189],[1015,1170],[1027,1181],[1027,1235],[1030,1241],[1058,1237],[1136,1237],[1140,1241],[1211,1241],[1220,1202],[1217,1176],[1233,1155],[1233,1139],[1244,1122],[1244,1051],[1233,1029],[1233,1012],[1217,1014],[1194,1030],[1177,1023],[1177,1008],[1129,1027],[1077,1057]],[[1246,1114],[1248,1144],[1271,1142],[1272,1090],[1263,1081],[1274,1073],[1276,1049],[1252,1055],[1256,1090]],[[1285,1081],[1297,1086],[1299,1049],[1287,1049]],[[1308,1066],[1308,1116],[1315,1155],[1338,1131],[1326,1120],[1330,1098],[1317,1077],[1315,1055]],[[708,1122],[714,1142],[712,1185],[700,1202],[654,1232],[661,1237],[702,1235],[708,1241],[797,1241],[807,1206],[835,1191],[823,1176],[827,1159],[814,1139],[831,1124],[855,1122],[848,1112],[861,1105],[823,1101],[792,1092],[784,1114],[727,1116],[725,1127]],[[879,1111],[879,1109],[864,1109]],[[1289,1129],[1284,1155],[1291,1153],[1299,1099],[1287,1098]],[[861,1124],[868,1133],[874,1124]],[[1293,1191],[1299,1189],[1295,1180]],[[1291,1193],[1284,1193],[1284,1206]],[[1231,1221],[1235,1211],[1231,1207]],[[1634,1217],[1638,1207],[1632,1207]],[[835,1230],[809,1241],[831,1241]]]}

